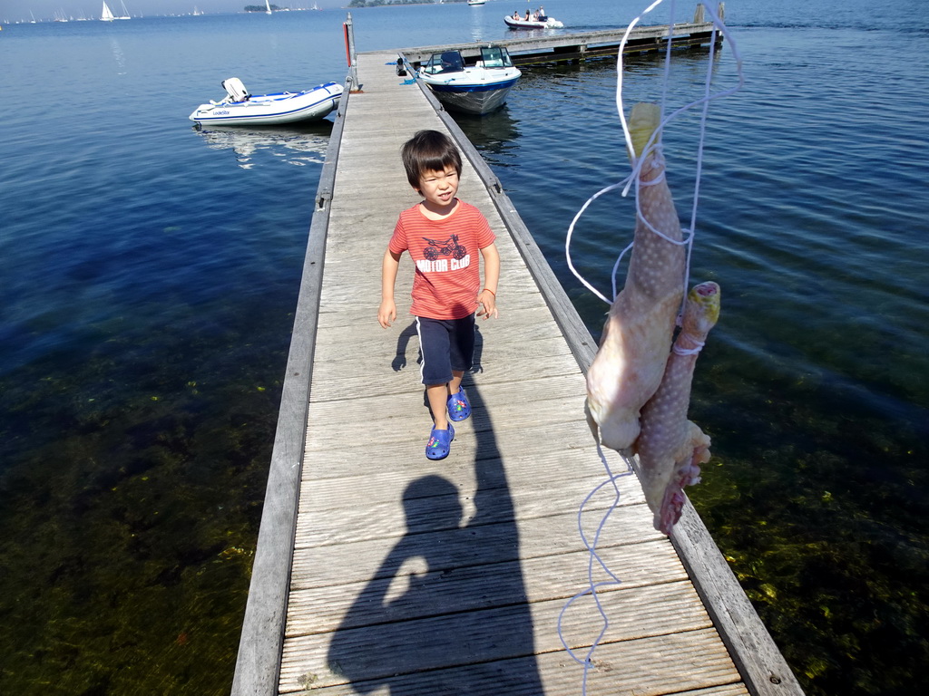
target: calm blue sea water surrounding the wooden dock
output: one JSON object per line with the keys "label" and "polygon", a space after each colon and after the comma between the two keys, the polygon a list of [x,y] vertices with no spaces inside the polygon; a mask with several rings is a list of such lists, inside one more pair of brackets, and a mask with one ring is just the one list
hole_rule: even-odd
{"label": "calm blue sea water surrounding the wooden dock", "polygon": [[[356,42],[501,39],[518,5],[360,9]],[[646,3],[545,6],[568,32]],[[255,93],[341,82],[344,19],[0,32],[0,692],[229,691],[332,123],[187,116],[232,75]],[[807,693],[922,692],[929,11],[730,0],[726,20],[746,84],[707,124],[692,277],[724,301],[690,414],[714,458],[688,493]],[[707,61],[675,56],[666,79],[636,58],[626,96],[686,103]],[[733,84],[728,47],[713,70]],[[595,334],[606,305],[563,242],[628,174],[615,78],[611,60],[531,68],[504,110],[461,120]],[[698,136],[694,116],[665,133],[684,211]],[[579,226],[601,290],[631,206],[604,196]]]}

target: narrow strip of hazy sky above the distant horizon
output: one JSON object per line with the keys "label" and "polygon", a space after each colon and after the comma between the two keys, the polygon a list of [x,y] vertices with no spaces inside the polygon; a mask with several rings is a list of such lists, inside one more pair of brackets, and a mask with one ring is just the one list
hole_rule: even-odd
{"label": "narrow strip of hazy sky above the distant horizon", "polygon": [[[347,6],[349,0],[272,0],[280,7],[311,7],[321,9]],[[265,0],[123,0],[130,15],[190,14],[194,6],[204,13],[242,12],[246,5],[264,5]],[[121,8],[120,0],[107,0],[114,13]],[[102,0],[0,0],[0,22],[32,19],[54,19],[56,13],[66,17],[100,16]],[[118,14],[118,13],[117,13]]]}

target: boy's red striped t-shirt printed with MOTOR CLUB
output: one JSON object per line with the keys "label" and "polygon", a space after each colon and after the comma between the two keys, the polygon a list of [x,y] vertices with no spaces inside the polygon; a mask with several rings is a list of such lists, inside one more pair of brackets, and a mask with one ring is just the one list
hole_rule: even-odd
{"label": "boy's red striped t-shirt printed with MOTOR CLUB", "polygon": [[461,319],[477,311],[479,250],[496,236],[477,208],[464,200],[442,220],[430,220],[417,203],[400,213],[388,249],[409,251],[416,272],[410,313],[430,319]]}

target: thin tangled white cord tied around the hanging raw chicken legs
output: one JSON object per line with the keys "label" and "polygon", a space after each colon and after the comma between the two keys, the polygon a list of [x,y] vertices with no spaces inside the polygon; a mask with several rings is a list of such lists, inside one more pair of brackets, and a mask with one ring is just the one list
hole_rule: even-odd
{"label": "thin tangled white cord tied around the hanging raw chicken legs", "polygon": [[[637,158],[635,157],[635,148],[633,147],[632,135],[629,132],[629,126],[628,126],[628,123],[626,122],[623,105],[622,105],[622,52],[629,38],[629,34],[630,32],[632,32],[635,25],[643,17],[645,17],[645,15],[651,12],[655,7],[661,5],[663,1],[664,0],[655,0],[655,2],[653,2],[650,6],[648,6],[648,8],[645,9],[645,11],[643,11],[638,17],[633,19],[632,22],[630,22],[629,26],[626,28],[626,32],[622,36],[622,41],[620,43],[620,48],[619,48],[619,55],[617,58],[616,105],[617,105],[617,110],[619,111],[619,114],[620,114],[620,122],[622,122],[622,133],[625,137],[626,148],[628,149],[630,153],[630,159],[633,164],[632,173],[629,174],[629,176],[627,176],[621,182],[618,182],[616,184],[613,184],[611,186],[608,186],[606,188],[603,188],[597,191],[586,202],[584,202],[584,204],[581,207],[581,210],[578,211],[578,213],[574,216],[574,219],[571,221],[571,224],[568,228],[568,234],[566,235],[566,238],[565,238],[565,256],[567,257],[568,267],[571,269],[571,273],[573,273],[576,277],[578,277],[578,279],[581,280],[582,284],[588,290],[591,290],[597,297],[599,297],[601,300],[603,300],[604,302],[608,304],[612,304],[613,299],[615,299],[618,294],[616,278],[618,275],[619,267],[620,267],[620,264],[622,263],[622,258],[624,257],[626,252],[630,251],[633,248],[633,243],[630,242],[622,250],[622,252],[620,253],[619,257],[616,260],[616,263],[613,264],[612,275],[611,275],[611,278],[612,278],[611,297],[613,299],[608,299],[602,292],[600,292],[599,290],[596,290],[593,285],[587,282],[587,280],[584,277],[582,277],[582,275],[574,267],[574,264],[571,262],[570,240],[571,240],[571,236],[574,233],[574,227],[577,224],[578,220],[581,218],[581,215],[584,213],[584,211],[587,210],[590,204],[594,202],[594,200],[598,199],[600,196],[604,195],[605,193],[608,193],[609,191],[615,190],[617,188],[622,188],[622,195],[626,196],[629,193],[629,189],[633,186],[633,184],[635,184],[636,219],[641,221],[643,224],[645,224],[648,227],[649,230],[659,235],[661,238],[665,239],[666,241],[670,241],[674,244],[679,244],[679,245],[687,245],[687,262],[685,265],[686,270],[685,270],[685,277],[684,277],[684,290],[685,290],[684,295],[686,297],[687,296],[687,285],[689,283],[689,276],[690,276],[690,257],[691,257],[691,251],[693,249],[693,239],[694,239],[695,229],[697,226],[697,207],[698,207],[698,201],[700,198],[700,174],[702,173],[703,143],[704,143],[704,139],[706,135],[707,113],[709,111],[709,106],[710,106],[711,101],[713,101],[714,99],[718,99],[720,97],[726,97],[728,95],[731,95],[733,92],[738,90],[742,86],[742,84],[744,84],[744,76],[742,74],[741,58],[739,57],[739,51],[736,47],[735,42],[732,39],[732,36],[726,30],[726,26],[723,23],[722,19],[718,17],[718,15],[713,11],[713,9],[708,5],[704,5],[704,10],[710,15],[711,21],[713,22],[713,32],[711,33],[711,37],[710,37],[710,60],[707,64],[706,80],[704,84],[703,97],[687,104],[686,106],[678,110],[674,110],[674,112],[672,112],[670,115],[665,116],[665,104],[667,102],[667,88],[668,88],[668,84],[670,83],[669,76],[670,76],[670,70],[671,70],[671,49],[672,49],[672,43],[673,43],[672,42],[673,36],[669,36],[669,40],[667,42],[667,50],[666,50],[665,59],[664,59],[664,80],[662,83],[663,90],[662,90],[662,96],[661,96],[661,119],[660,119],[658,128],[655,129],[655,132],[651,135],[651,137],[649,137],[648,143],[646,144],[645,148],[643,148],[642,154]],[[674,27],[674,0],[670,1],[670,15],[671,16],[668,20],[668,24],[670,27]],[[726,42],[729,45],[729,48],[732,52],[732,56],[733,58],[735,58],[736,71],[738,74],[738,84],[736,84],[734,87],[731,87],[730,89],[726,89],[724,91],[713,93],[713,90],[712,90],[713,61],[715,59],[716,33],[717,32],[721,33],[726,38]],[[671,32],[671,33],[673,34],[674,32]],[[664,129],[665,124],[674,120],[675,118],[680,116],[685,111],[690,110],[698,105],[702,105],[702,113],[700,115],[700,141],[699,141],[700,145],[699,145],[698,153],[697,153],[697,172],[696,172],[695,184],[694,184],[693,205],[692,205],[691,213],[690,213],[690,224],[686,229],[682,230],[684,232],[683,238],[681,240],[675,240],[675,239],[668,238],[667,236],[662,234],[661,231],[659,231],[658,229],[655,229],[655,227],[652,226],[648,222],[648,220],[646,220],[645,217],[642,215],[642,211],[639,206],[639,196],[638,196],[639,187],[649,186],[649,185],[654,185],[654,184],[659,183],[661,180],[663,180],[663,173],[656,180],[648,182],[648,183],[641,182],[639,174],[649,154],[653,155],[654,158],[657,158],[658,161],[661,161],[661,147],[656,145],[656,143],[658,141],[659,136],[661,135],[661,131]],[[686,351],[686,353],[696,354],[697,352],[700,351],[701,347],[702,347],[702,344],[695,346],[693,349]],[[608,586],[617,586],[622,583],[622,580],[616,574],[614,574],[612,571],[609,570],[607,563],[603,561],[603,559],[600,558],[599,554],[597,554],[596,545],[600,540],[600,535],[602,534],[603,529],[606,526],[609,516],[612,514],[613,510],[616,509],[616,507],[620,503],[620,488],[616,482],[622,476],[628,476],[633,471],[632,460],[630,458],[626,458],[623,456],[622,459],[626,465],[626,469],[620,473],[614,474],[613,471],[610,469],[609,462],[607,461],[607,458],[605,457],[603,453],[603,449],[599,443],[597,443],[596,449],[597,449],[597,454],[599,455],[600,461],[603,464],[604,469],[606,470],[607,479],[604,482],[599,483],[594,488],[594,490],[591,491],[590,494],[583,499],[581,507],[578,510],[578,529],[581,535],[581,540],[584,545],[584,548],[587,548],[588,553],[589,553],[589,561],[587,563],[587,586],[581,592],[577,593],[571,599],[568,600],[568,602],[565,604],[565,606],[562,608],[561,612],[558,615],[558,625],[557,625],[558,638],[560,638],[561,644],[565,647],[565,650],[568,651],[568,654],[570,655],[571,659],[583,665],[583,678],[582,678],[583,696],[586,696],[586,693],[587,693],[587,677],[589,675],[591,667],[594,664],[593,662],[594,653],[596,651],[596,648],[599,646],[601,640],[607,635],[607,631],[609,628],[609,619],[608,619],[607,613],[604,611],[604,608],[602,604],[600,603],[600,599],[597,596],[597,593],[601,589],[604,589]],[[583,526],[582,526],[583,511],[584,511],[585,506],[589,503],[589,501],[601,489],[603,489],[605,486],[610,485],[610,484],[613,486],[615,496],[614,496],[612,504],[608,507],[603,517],[601,518],[596,528],[593,541],[591,542],[588,540],[587,535],[585,535],[583,531]],[[596,568],[599,568],[604,573],[606,573],[609,579],[600,581],[600,582],[595,581],[595,569]],[[600,630],[600,633],[597,635],[595,640],[591,643],[590,648],[586,651],[583,658],[580,658],[575,654],[575,651],[573,651],[570,648],[570,646],[568,645],[568,642],[564,638],[564,635],[562,633],[562,619],[565,615],[565,612],[569,610],[569,607],[571,607],[577,599],[581,599],[582,597],[586,597],[587,595],[590,595],[594,599],[596,610],[597,612],[600,613],[603,625]]]}

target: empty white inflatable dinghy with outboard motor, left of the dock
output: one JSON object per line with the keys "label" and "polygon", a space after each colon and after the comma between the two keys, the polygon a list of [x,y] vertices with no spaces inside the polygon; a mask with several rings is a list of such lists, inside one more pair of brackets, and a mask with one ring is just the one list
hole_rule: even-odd
{"label": "empty white inflatable dinghy with outboard motor, left of the dock", "polygon": [[227,97],[201,104],[190,114],[190,121],[201,125],[319,121],[338,106],[343,90],[341,84],[326,83],[302,92],[250,95],[237,77],[224,80],[223,87]]}

